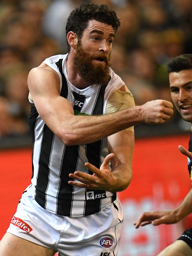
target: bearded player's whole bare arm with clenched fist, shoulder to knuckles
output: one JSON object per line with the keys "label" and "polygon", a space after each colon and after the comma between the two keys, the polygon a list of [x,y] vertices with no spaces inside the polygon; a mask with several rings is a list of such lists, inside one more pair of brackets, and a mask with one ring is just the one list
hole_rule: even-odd
{"label": "bearded player's whole bare arm with clenched fist, shoulder to knuckles", "polygon": [[156,100],[109,115],[75,116],[71,103],[59,95],[59,85],[58,74],[45,64],[29,73],[28,87],[39,115],[66,145],[94,142],[141,122],[164,123],[173,114],[172,103]]}

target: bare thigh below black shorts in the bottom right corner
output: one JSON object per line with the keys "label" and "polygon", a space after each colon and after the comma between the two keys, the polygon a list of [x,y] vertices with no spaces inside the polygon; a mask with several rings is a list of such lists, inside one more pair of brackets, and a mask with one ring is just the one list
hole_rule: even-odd
{"label": "bare thigh below black shorts in the bottom right corner", "polygon": [[177,240],[163,249],[157,256],[192,256],[192,249],[186,242]]}

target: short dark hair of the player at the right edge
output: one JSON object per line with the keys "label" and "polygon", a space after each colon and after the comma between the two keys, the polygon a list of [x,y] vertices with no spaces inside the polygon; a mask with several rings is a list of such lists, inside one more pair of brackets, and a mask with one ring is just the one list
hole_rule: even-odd
{"label": "short dark hair of the player at the right edge", "polygon": [[167,64],[167,71],[169,74],[171,72],[179,72],[185,69],[192,69],[192,54],[182,54],[171,59]]}

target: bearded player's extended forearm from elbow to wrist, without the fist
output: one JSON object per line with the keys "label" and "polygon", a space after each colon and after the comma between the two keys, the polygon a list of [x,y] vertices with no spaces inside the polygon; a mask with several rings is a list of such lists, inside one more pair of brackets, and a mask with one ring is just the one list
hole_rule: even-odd
{"label": "bearded player's extended forearm from elbow to wrist, without the fist", "polygon": [[72,116],[60,124],[58,137],[66,145],[90,143],[141,122],[140,106],[103,116]]}

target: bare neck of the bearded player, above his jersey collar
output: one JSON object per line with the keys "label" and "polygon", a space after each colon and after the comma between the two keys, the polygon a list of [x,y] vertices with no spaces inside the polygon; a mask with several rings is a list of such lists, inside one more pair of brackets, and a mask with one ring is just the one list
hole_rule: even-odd
{"label": "bare neck of the bearded player, above his jersey collar", "polygon": [[91,83],[86,82],[80,75],[77,73],[77,69],[74,65],[74,56],[69,53],[68,59],[66,60],[66,69],[67,76],[72,85],[78,89],[85,89],[91,85]]}

